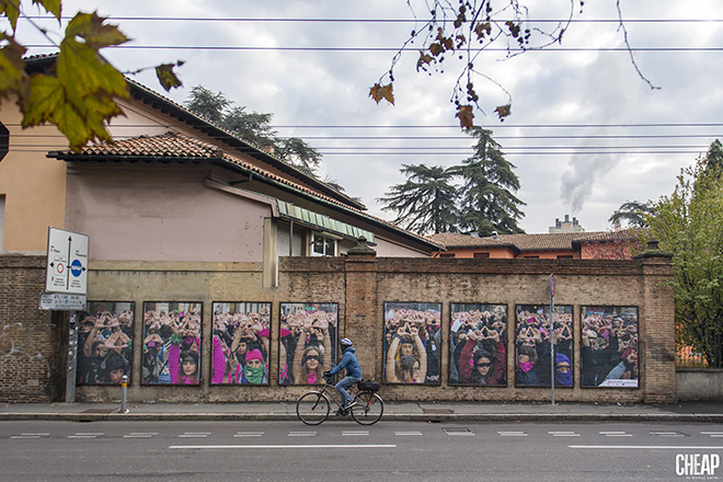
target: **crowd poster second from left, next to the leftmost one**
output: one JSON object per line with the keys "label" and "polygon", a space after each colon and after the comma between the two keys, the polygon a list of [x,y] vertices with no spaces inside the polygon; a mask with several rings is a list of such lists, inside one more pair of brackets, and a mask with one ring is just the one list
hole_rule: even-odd
{"label": "crowd poster second from left, next to the leftmost one", "polygon": [[202,308],[199,302],[144,302],[141,385],[199,385]]}

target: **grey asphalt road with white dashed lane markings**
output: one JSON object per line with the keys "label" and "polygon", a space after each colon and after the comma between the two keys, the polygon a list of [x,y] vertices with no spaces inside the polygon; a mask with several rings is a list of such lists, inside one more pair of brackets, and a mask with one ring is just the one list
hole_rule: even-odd
{"label": "grey asphalt road with white dashed lane markings", "polygon": [[0,481],[723,478],[723,425],[2,422]]}

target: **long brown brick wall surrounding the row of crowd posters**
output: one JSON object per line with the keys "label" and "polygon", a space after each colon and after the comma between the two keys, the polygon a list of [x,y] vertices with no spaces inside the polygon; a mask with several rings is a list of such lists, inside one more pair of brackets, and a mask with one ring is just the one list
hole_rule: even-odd
{"label": "long brown brick wall surrounding the row of crowd posters", "polygon": [[[58,360],[67,342],[50,321],[49,313],[36,309],[43,289],[44,260],[0,256],[0,321],[3,338],[3,400],[30,395],[42,400],[58,398],[65,380]],[[32,262],[31,262],[32,261]],[[33,273],[27,277],[27,265]],[[133,353],[129,401],[236,402],[295,401],[308,387],[278,386],[278,307],[282,302],[338,303],[340,335],[357,345],[365,377],[382,380],[383,307],[387,301],[441,303],[440,372],[438,386],[386,385],[385,399],[463,400],[463,401],[546,401],[549,388],[518,388],[514,382],[514,319],[516,305],[549,302],[549,275],[556,279],[556,305],[573,306],[578,326],[583,306],[633,306],[639,308],[641,372],[639,388],[581,388],[581,355],[575,351],[574,388],[555,390],[556,401],[670,402],[676,397],[674,306],[665,280],[673,269],[665,256],[635,260],[461,260],[377,257],[365,246],[344,257],[283,259],[279,285],[262,286],[260,263],[171,263],[171,262],[91,262],[90,300],[134,301],[135,338],[142,333],[144,301],[200,301],[203,306],[202,382],[199,387],[141,386],[141,353]],[[12,291],[11,291],[12,289]],[[20,302],[19,302],[20,301]],[[214,301],[263,301],[272,303],[271,379],[267,387],[211,386],[210,347],[211,306]],[[507,387],[457,387],[448,385],[450,303],[498,303],[507,307]],[[9,344],[21,341],[27,356],[12,352]],[[57,341],[57,343],[56,343]],[[574,330],[579,346],[579,329]],[[139,346],[136,343],[135,346]],[[15,344],[19,346],[19,344]],[[30,348],[32,346],[32,348]],[[5,363],[12,354],[12,363]],[[30,364],[14,368],[15,358]],[[37,374],[38,360],[44,369]],[[33,365],[33,362],[37,362]],[[10,368],[8,368],[10,366]],[[14,371],[13,371],[14,370]],[[46,376],[47,374],[47,376]],[[15,377],[15,379],[9,379]],[[53,381],[49,381],[49,380]],[[35,381],[37,380],[37,381]],[[14,387],[11,391],[11,387]],[[34,387],[36,390],[30,390]],[[78,401],[119,400],[116,387],[81,386]]]}

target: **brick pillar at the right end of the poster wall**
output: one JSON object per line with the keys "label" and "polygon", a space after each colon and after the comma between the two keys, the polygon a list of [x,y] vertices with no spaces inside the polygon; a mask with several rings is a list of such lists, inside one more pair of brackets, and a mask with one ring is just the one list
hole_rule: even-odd
{"label": "brick pillar at the right end of the poster wall", "polygon": [[677,400],[675,375],[675,300],[673,288],[673,254],[649,243],[636,255],[643,273],[641,378],[643,400],[646,403],[672,403]]}

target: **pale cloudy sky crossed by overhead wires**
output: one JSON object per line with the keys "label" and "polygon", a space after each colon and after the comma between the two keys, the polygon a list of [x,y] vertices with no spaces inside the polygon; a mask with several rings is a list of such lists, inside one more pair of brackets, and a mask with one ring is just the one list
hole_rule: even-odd
{"label": "pale cloudy sky crossed by overhead wires", "polygon": [[[37,11],[24,3],[27,14]],[[519,3],[532,26],[544,28],[566,19],[572,4]],[[183,87],[169,93],[150,69],[133,77],[175,102],[204,85],[248,112],[273,113],[279,136],[302,138],[323,154],[322,176],[391,220],[377,199],[405,182],[403,164],[458,165],[474,144],[450,102],[461,72],[455,57],[444,71],[417,72],[416,42],[394,66],[394,105],[369,97],[397,49],[423,25],[412,22],[410,4],[426,19],[417,0],[65,0],[64,15],[111,18],[131,38],[104,49],[120,71],[184,60],[175,70]],[[582,13],[575,5],[577,21],[560,44],[513,57],[484,51],[474,60],[492,79],[474,80],[484,110],[475,125],[492,130],[516,167],[516,195],[526,203],[519,226],[528,233],[548,232],[565,215],[586,231],[610,229],[621,204],[670,194],[680,169],[723,138],[723,2],[619,4],[624,31],[616,0],[585,2]],[[57,21],[35,22],[59,41]],[[27,21],[18,37],[33,45],[28,55],[55,50]],[[509,97],[512,115],[500,122],[494,108]]]}

